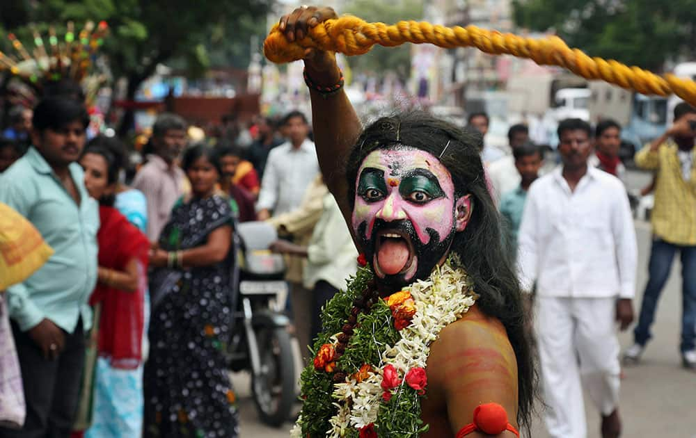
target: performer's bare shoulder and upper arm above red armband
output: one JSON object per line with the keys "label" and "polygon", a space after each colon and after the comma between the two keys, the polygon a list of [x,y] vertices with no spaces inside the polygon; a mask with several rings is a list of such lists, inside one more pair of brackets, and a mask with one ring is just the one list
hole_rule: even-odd
{"label": "performer's bare shoulder and upper arm above red armband", "polygon": [[441,332],[427,361],[428,383],[446,400],[453,430],[470,423],[475,407],[498,403],[516,423],[517,361],[497,318],[476,306]]}

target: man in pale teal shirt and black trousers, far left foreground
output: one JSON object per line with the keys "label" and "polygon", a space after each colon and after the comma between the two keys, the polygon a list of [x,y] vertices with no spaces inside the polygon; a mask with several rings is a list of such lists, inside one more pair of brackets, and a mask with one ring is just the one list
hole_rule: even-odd
{"label": "man in pale teal shirt and black trousers, far left foreground", "polygon": [[0,438],[67,438],[91,325],[87,300],[97,282],[99,209],[75,163],[89,117],[79,102],[49,97],[32,122],[33,147],[0,177],[0,201],[32,222],[55,253],[7,291],[27,415],[22,430],[0,428]]}

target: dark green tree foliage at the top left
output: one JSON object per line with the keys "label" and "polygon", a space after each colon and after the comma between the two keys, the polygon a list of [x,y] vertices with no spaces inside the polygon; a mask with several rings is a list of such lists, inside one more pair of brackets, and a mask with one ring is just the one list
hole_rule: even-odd
{"label": "dark green tree foliage at the top left", "polygon": [[[106,20],[110,35],[105,39],[104,52],[109,55],[114,75],[128,79],[128,95],[133,97],[159,63],[180,60],[191,73],[200,74],[209,66],[209,52],[212,52],[226,65],[245,67],[251,32],[263,33],[259,22],[269,10],[271,0],[11,0],[1,3],[1,30],[14,31],[27,42],[31,40],[30,23],[39,31],[46,31],[49,25],[64,31],[68,20],[78,27],[87,20]],[[0,45],[0,48],[8,50],[7,42],[3,43],[4,47]]]}

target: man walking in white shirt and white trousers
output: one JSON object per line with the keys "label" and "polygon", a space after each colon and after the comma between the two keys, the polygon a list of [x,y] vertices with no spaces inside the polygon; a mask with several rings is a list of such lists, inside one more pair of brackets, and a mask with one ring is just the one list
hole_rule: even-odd
{"label": "man walking in white shirt and white trousers", "polygon": [[581,379],[618,437],[619,341],[615,321],[633,321],[637,245],[631,209],[616,177],[587,165],[590,124],[558,126],[562,168],[532,184],[519,235],[521,281],[537,282],[537,333],[552,437],[585,438]]}

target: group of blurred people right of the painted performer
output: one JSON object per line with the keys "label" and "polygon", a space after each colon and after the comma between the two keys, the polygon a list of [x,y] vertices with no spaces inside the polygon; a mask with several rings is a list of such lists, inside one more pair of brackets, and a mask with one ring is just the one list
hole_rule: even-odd
{"label": "group of blurred people right of the painted performer", "polygon": [[[487,117],[469,117],[484,133]],[[674,108],[674,124],[635,156],[654,172],[649,280],[635,343],[622,354],[615,321],[626,330],[634,319],[638,248],[619,159],[622,127],[601,120],[594,129],[562,120],[557,134],[561,165],[544,175],[544,149],[528,141],[522,124],[509,129],[512,155],[482,147],[492,193],[507,223],[509,248],[520,279],[534,301],[546,426],[552,437],[585,437],[583,384],[599,411],[603,437],[618,436],[621,361],[640,362],[662,289],[679,252],[683,273],[681,362],[696,369],[696,295],[691,257],[696,238],[693,172],[696,108]]]}

